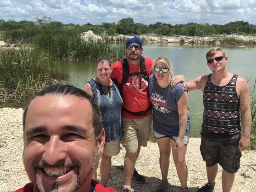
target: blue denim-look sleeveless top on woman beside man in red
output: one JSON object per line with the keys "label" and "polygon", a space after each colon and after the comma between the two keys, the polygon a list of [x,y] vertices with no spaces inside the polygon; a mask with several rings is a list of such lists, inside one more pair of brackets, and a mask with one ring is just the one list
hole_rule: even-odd
{"label": "blue denim-look sleeveless top on woman beside man in red", "polygon": [[94,79],[88,82],[94,94],[93,102],[99,106],[103,118],[103,128],[105,130],[105,142],[121,139],[121,110],[123,100],[115,83],[109,87],[107,94],[105,87],[97,83]]}

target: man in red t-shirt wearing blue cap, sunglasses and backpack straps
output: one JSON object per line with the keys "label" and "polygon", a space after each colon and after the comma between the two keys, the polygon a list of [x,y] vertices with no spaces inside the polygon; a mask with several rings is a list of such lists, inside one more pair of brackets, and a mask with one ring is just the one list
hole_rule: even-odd
{"label": "man in red t-shirt wearing blue cap, sunglasses and backpack straps", "polygon": [[[153,60],[142,57],[142,51],[142,41],[139,37],[128,38],[125,47],[126,58],[123,60],[126,65],[121,61],[115,62],[111,74],[111,78],[117,80],[123,98],[121,142],[126,150],[123,191],[127,192],[131,190],[132,178],[135,182],[145,182],[145,178],[135,170],[135,163],[141,146],[147,146],[151,132],[152,107],[147,77],[151,74]],[[124,80],[125,72],[129,76]]]}

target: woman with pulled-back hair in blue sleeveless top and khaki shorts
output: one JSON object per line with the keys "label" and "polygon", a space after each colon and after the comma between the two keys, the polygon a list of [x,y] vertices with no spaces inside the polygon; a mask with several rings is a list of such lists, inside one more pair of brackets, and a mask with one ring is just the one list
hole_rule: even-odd
{"label": "woman with pulled-back hair in blue sleeveless top and khaki shorts", "polygon": [[[83,90],[93,98],[99,106],[103,118],[103,128],[106,133],[105,146],[101,155],[101,185],[107,186],[111,170],[111,156],[119,154],[121,130],[121,109],[123,100],[116,84],[111,80],[111,63],[108,58],[97,61],[97,77],[85,83]],[[100,158],[100,157],[99,157]],[[97,166],[93,179],[97,179]]]}

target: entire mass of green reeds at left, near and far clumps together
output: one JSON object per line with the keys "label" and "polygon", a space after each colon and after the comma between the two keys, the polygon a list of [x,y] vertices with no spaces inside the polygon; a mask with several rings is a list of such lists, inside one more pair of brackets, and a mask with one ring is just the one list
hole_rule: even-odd
{"label": "entire mass of green reeds at left, near and far clumps together", "polygon": [[[65,78],[65,74],[54,70],[52,60],[118,60],[125,56],[124,45],[85,42],[78,30],[31,28],[6,32],[5,38],[32,48],[0,51],[0,106],[22,102],[54,79]],[[43,60],[46,65],[42,65]]]}

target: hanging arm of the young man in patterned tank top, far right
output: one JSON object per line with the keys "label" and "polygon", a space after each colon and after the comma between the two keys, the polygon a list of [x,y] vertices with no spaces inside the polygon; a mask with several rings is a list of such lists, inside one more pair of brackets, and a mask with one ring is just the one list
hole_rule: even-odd
{"label": "hanging arm of the young man in patterned tank top, far right", "polygon": [[240,112],[243,127],[243,135],[239,141],[238,149],[246,150],[250,146],[250,131],[252,126],[252,116],[250,111],[250,92],[248,83],[242,77],[238,77],[236,90],[240,99]]}

